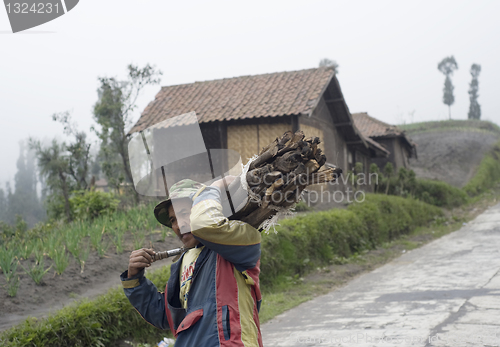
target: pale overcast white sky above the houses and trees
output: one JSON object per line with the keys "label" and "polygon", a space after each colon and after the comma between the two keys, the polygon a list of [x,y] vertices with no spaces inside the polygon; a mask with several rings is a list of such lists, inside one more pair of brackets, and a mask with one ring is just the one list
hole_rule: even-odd
{"label": "pale overcast white sky above the houses and trees", "polygon": [[[131,63],[155,65],[167,86],[314,68],[329,58],[352,113],[402,124],[448,118],[437,65],[453,55],[452,118],[467,118],[477,63],[482,119],[500,124],[499,13],[494,0],[82,0],[13,34],[0,9],[0,187],[14,179],[20,140],[64,139],[53,113],[70,111],[89,131],[97,78],[125,79]],[[143,91],[134,121],[159,90]]]}

